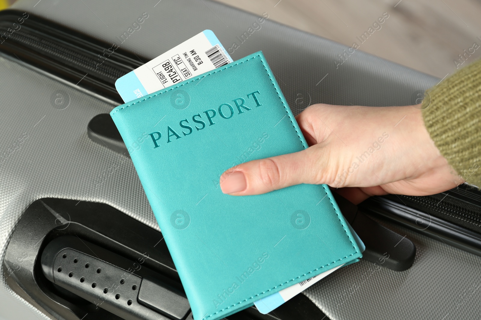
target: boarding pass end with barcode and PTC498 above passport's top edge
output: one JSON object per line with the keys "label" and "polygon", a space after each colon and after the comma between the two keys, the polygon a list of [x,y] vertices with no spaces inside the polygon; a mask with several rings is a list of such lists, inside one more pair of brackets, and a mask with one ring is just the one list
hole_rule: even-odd
{"label": "boarding pass end with barcode and PTC498 above passport's top edge", "polygon": [[115,88],[128,102],[232,62],[214,32],[204,30],[120,77]]}

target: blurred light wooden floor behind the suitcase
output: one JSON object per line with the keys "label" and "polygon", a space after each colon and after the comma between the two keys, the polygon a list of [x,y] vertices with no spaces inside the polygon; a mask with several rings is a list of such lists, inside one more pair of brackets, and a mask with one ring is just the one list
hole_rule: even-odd
{"label": "blurred light wooden floor behind the suitcase", "polygon": [[[352,46],[383,12],[360,50],[443,78],[481,57],[481,0],[217,0]],[[475,46],[476,47],[476,46]],[[473,49],[470,49],[473,48]],[[466,50],[466,62],[458,55]]]}

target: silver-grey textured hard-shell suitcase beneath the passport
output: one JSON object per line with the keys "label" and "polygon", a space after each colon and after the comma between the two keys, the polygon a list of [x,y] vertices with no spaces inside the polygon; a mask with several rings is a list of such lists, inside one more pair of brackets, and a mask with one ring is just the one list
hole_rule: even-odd
{"label": "silver-grey textured hard-shell suitcase beneath the passport", "polygon": [[[59,23],[76,30],[79,35],[92,36],[99,39],[99,43],[117,41],[117,37],[124,35],[127,28],[147,12],[149,18],[119,48],[128,59],[117,62],[129,68],[135,68],[204,29],[213,30],[225,47],[231,47],[231,43],[239,42],[237,37],[257,19],[252,14],[209,0],[153,2],[19,0],[13,9]],[[4,44],[8,41],[5,39]],[[412,105],[419,94],[439,81],[362,51],[356,51],[337,68],[334,61],[345,49],[347,47],[328,39],[267,19],[231,56],[236,60],[262,50],[294,114],[315,103]],[[35,269],[41,257],[28,254],[47,246],[48,237],[42,238],[38,232],[47,222],[27,221],[26,217],[51,214],[48,221],[50,227],[53,226],[51,230],[57,230],[54,231],[57,234],[74,230],[70,235],[81,234],[79,229],[73,228],[81,221],[84,226],[90,224],[94,228],[107,218],[117,217],[120,222],[146,230],[141,236],[151,242],[144,243],[144,247],[130,235],[129,241],[137,243],[134,251],[154,252],[151,256],[158,255],[158,259],[154,257],[157,260],[168,252],[165,253],[163,242],[159,243],[161,239],[154,236],[160,230],[135,169],[131,161],[118,152],[123,146],[105,140],[103,142],[107,143],[102,145],[99,143],[102,139],[88,128],[92,119],[108,113],[121,102],[108,85],[118,75],[114,72],[102,80],[90,77],[89,72],[80,74],[68,68],[64,72],[50,72],[47,61],[28,62],[22,54],[28,56],[28,50],[17,52],[16,56],[1,51],[0,58],[3,141],[3,150],[0,150],[3,153],[0,164],[0,181],[3,182],[0,189],[3,268],[0,319],[94,319],[99,313],[96,314],[98,311],[92,302],[89,303],[93,307],[78,302],[63,311],[51,307],[58,301],[46,294],[47,286],[42,287],[45,283],[36,274],[41,272]],[[117,63],[114,58],[107,61],[105,67],[108,63]],[[60,106],[56,103],[59,97],[62,98]],[[101,128],[99,130],[95,132],[101,133]],[[95,141],[96,138],[99,139]],[[262,318],[255,310],[246,310],[229,319],[322,319],[325,315],[326,319],[478,318],[481,258],[478,256],[480,230],[477,230],[476,220],[480,206],[476,201],[479,195],[468,189],[450,192],[443,200],[449,205],[442,209],[435,208],[436,202],[432,204],[432,199],[442,200],[445,194],[434,196],[428,202],[403,198],[409,202],[407,206],[389,197],[371,199],[361,206],[381,225],[414,242],[417,255],[407,271],[381,268],[373,272],[371,262],[361,261],[323,279],[267,318]],[[39,201],[42,199],[50,200],[42,203]],[[81,210],[68,209],[79,206]],[[77,220],[69,218],[69,212]],[[117,227],[121,228],[122,224]],[[109,231],[108,227],[100,232],[110,239],[126,233]],[[89,240],[96,245],[95,237]],[[22,250],[25,245],[28,249]],[[114,242],[107,249],[120,252],[116,251]],[[154,264],[152,262],[152,270]],[[165,270],[173,268],[169,262],[164,266]],[[44,299],[27,292],[29,287],[17,281],[17,274],[29,276],[38,286],[37,294],[44,295]],[[169,272],[165,274],[169,276]],[[170,277],[175,278],[175,273]],[[171,284],[171,291],[177,290],[181,295],[181,288],[175,286]],[[75,297],[66,292],[57,296],[62,295],[75,301]],[[54,303],[45,302],[50,300]],[[175,315],[162,311],[159,314],[166,319],[173,319]],[[118,319],[109,318],[108,313],[101,315],[105,319]],[[185,316],[189,317],[188,313]],[[142,319],[142,314],[138,317],[132,319]]]}

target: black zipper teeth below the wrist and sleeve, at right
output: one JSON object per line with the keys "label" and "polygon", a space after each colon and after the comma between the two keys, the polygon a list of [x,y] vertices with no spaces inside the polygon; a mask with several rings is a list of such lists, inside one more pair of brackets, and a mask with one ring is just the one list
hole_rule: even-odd
{"label": "black zipper teeth below the wrist and sleeve, at right", "polygon": [[431,209],[435,212],[449,215],[453,218],[466,221],[473,225],[477,225],[477,226],[481,225],[480,215],[476,215],[476,213],[473,214],[473,212],[468,211],[468,209],[456,206],[455,204],[439,201],[438,199],[434,199],[429,196],[424,196],[424,197],[414,197],[414,196],[405,196],[405,195],[399,195],[399,196],[408,201],[416,203],[422,206],[423,208]]}

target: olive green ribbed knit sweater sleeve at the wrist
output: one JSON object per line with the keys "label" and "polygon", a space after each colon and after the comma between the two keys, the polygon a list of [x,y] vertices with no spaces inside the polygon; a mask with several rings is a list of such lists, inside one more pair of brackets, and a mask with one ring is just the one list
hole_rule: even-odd
{"label": "olive green ribbed knit sweater sleeve at the wrist", "polygon": [[481,187],[481,59],[426,91],[422,116],[456,172]]}

